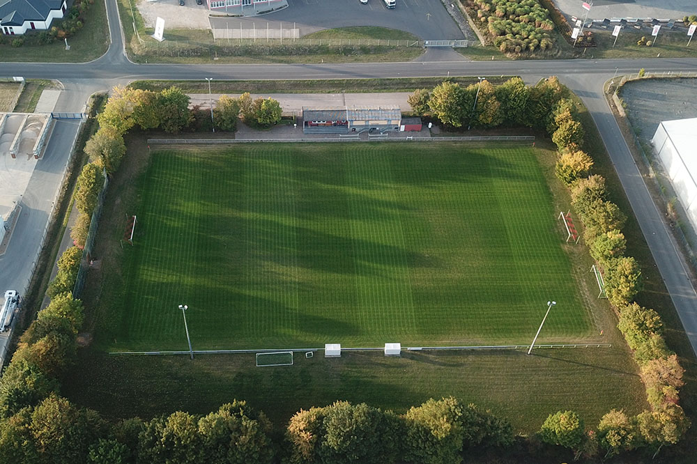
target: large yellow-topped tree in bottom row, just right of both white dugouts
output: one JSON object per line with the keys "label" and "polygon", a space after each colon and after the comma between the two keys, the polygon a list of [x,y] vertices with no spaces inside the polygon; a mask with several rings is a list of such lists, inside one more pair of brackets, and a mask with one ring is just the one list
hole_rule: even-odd
{"label": "large yellow-topped tree in bottom row, just right of both white dugouts", "polygon": [[406,461],[422,464],[457,464],[462,461],[464,434],[462,406],[457,399],[429,399],[404,415]]}

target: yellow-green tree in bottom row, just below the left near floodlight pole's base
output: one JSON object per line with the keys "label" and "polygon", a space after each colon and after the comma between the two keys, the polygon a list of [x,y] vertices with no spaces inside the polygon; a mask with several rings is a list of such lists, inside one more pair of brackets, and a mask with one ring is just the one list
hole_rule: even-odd
{"label": "yellow-green tree in bottom row, just below the left near floodlight pole's base", "polygon": [[196,418],[177,411],[158,417],[139,435],[139,461],[148,464],[199,463],[201,436]]}

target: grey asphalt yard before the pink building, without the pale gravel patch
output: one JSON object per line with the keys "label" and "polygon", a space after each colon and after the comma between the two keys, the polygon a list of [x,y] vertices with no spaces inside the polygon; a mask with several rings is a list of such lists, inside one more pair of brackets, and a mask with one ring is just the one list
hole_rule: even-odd
{"label": "grey asphalt yard before the pink building, without the pale gravel patch", "polygon": [[[250,18],[211,17],[214,29],[300,29],[300,37],[322,29],[382,26],[413,33],[423,40],[464,39],[440,0],[397,0],[388,10],[382,0],[288,0],[288,8]],[[254,25],[252,25],[254,23]]]}

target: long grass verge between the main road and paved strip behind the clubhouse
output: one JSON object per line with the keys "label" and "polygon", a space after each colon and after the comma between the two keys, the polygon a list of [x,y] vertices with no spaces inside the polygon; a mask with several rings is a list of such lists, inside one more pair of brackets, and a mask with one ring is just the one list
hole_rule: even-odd
{"label": "long grass verge between the main road and paved strip behind the clubhouse", "polygon": [[[500,84],[510,76],[487,77],[492,84]],[[374,93],[374,92],[413,92],[417,88],[434,88],[444,80],[457,82],[461,86],[476,84],[476,77],[404,77],[385,79],[288,79],[253,81],[212,81],[214,93]],[[208,93],[208,83],[202,81],[135,81],[130,87],[162,91],[163,88],[177,86],[187,93]]]}

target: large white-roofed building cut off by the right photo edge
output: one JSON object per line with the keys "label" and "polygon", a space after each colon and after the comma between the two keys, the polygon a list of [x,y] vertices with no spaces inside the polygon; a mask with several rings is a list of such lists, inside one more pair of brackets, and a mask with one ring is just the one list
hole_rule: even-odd
{"label": "large white-roofed building cut off by the right photo edge", "polygon": [[697,118],[662,121],[651,143],[689,222],[697,229]]}

